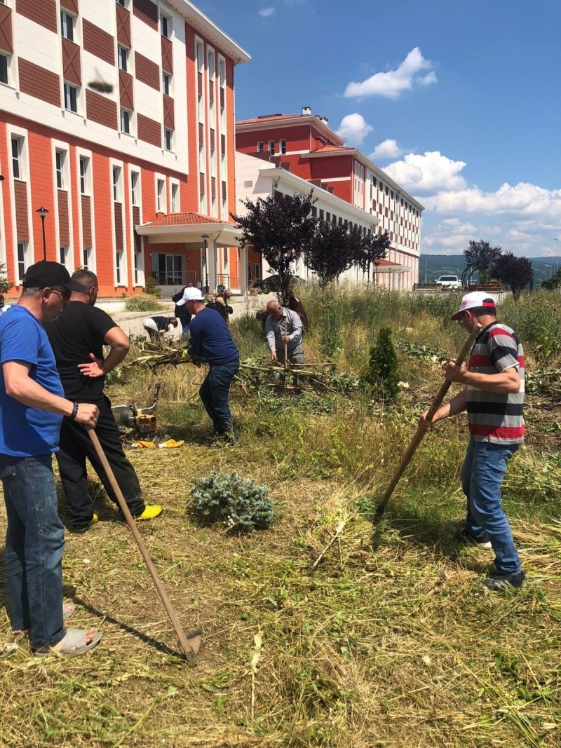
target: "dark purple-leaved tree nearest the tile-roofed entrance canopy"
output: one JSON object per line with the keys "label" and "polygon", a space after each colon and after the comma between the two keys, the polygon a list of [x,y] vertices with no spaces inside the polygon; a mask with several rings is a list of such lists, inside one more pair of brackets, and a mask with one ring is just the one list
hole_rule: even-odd
{"label": "dark purple-leaved tree nearest the tile-roofed entrance canopy", "polygon": [[257,202],[245,200],[245,215],[230,214],[242,229],[242,247],[251,245],[265,257],[281,281],[281,301],[288,304],[290,280],[295,263],[313,240],[316,219],[312,218],[313,190],[310,194],[275,192]]}

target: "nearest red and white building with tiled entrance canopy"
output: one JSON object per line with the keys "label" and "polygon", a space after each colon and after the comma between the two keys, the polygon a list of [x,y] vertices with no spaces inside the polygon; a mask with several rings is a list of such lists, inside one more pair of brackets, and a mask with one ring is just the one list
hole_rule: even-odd
{"label": "nearest red and white building with tiled entrance canopy", "polygon": [[[187,0],[0,0],[0,261],[242,289],[236,64],[249,55]],[[38,209],[48,211],[43,219]]]}

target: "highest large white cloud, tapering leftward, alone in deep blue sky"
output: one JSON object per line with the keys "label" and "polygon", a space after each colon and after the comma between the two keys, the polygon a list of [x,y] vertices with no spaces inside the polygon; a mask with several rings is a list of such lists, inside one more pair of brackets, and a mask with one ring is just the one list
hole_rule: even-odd
{"label": "highest large white cloud, tapering leftward, alone in deep blue sky", "polygon": [[[428,71],[424,75],[419,75]],[[347,99],[363,96],[387,96],[389,99],[399,98],[402,91],[410,91],[414,85],[430,85],[436,83],[436,74],[432,70],[432,62],[423,58],[419,47],[414,47],[396,70],[386,73],[374,73],[373,76],[361,82],[350,82],[345,89]]]}

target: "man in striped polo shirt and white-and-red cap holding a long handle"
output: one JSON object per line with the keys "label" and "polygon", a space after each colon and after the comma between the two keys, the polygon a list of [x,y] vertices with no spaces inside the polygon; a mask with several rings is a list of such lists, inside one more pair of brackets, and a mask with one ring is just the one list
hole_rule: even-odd
{"label": "man in striped polo shirt and white-and-red cap holding a long handle", "polygon": [[[447,365],[447,380],[465,388],[436,411],[432,423],[468,411],[470,443],[462,467],[468,516],[462,537],[493,549],[495,571],[483,580],[488,589],[520,587],[525,574],[500,488],[509,459],[524,441],[524,351],[515,332],[497,322],[497,304],[484,291],[466,294],[452,319],[470,332],[482,325],[482,331],[467,367],[454,361]],[[425,417],[421,422],[428,426]]]}

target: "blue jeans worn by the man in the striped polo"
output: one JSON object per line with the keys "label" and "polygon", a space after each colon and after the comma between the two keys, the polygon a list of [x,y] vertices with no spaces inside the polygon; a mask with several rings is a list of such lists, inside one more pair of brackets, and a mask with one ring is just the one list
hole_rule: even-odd
{"label": "blue jeans worn by the man in the striped polo", "polygon": [[506,466],[518,446],[471,439],[462,466],[462,488],[468,498],[466,530],[473,537],[491,541],[494,565],[500,574],[519,574],[522,571],[500,500]]}

